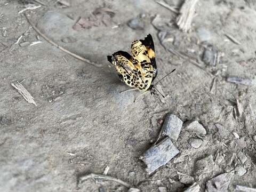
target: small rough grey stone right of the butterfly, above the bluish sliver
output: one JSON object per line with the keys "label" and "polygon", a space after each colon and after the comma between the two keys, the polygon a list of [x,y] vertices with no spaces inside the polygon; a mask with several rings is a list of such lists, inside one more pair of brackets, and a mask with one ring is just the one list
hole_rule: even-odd
{"label": "small rough grey stone right of the butterfly, above the bluish sliver", "polygon": [[204,49],[203,61],[206,65],[216,66],[218,58],[218,50],[213,45],[207,45]]}

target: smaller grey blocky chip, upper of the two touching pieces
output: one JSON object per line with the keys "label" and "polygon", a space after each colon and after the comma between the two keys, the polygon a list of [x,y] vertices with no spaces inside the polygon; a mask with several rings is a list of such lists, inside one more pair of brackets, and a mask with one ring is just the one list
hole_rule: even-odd
{"label": "smaller grey blocky chip, upper of the two touching pieces", "polygon": [[173,114],[167,114],[162,126],[163,135],[177,141],[180,135],[180,130],[183,122]]}

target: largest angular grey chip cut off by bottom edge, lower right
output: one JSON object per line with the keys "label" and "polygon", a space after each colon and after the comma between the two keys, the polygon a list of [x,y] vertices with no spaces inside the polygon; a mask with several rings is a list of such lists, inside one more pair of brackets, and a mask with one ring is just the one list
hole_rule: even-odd
{"label": "largest angular grey chip cut off by bottom edge, lower right", "polygon": [[206,191],[208,192],[228,192],[229,183],[234,176],[234,172],[223,173],[206,182]]}

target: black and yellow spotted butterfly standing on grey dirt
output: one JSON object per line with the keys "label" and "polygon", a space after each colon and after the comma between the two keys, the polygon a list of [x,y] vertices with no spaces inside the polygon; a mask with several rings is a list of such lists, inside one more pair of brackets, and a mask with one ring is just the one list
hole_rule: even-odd
{"label": "black and yellow spotted butterfly standing on grey dirt", "polygon": [[126,85],[154,93],[152,82],[156,78],[157,67],[152,36],[149,34],[145,39],[134,41],[131,50],[132,55],[124,51],[115,52],[108,56],[108,61],[115,66],[119,78]]}

